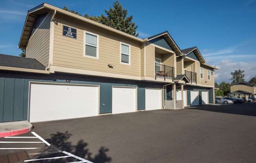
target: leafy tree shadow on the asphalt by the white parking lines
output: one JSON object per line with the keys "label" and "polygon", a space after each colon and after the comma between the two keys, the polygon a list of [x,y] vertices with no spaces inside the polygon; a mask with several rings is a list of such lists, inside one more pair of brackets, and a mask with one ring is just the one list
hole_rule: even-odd
{"label": "leafy tree shadow on the asphalt by the white parking lines", "polygon": [[[108,148],[101,147],[99,149],[98,153],[93,157],[92,153],[89,151],[89,149],[87,147],[88,143],[84,142],[81,139],[78,141],[77,145],[72,145],[71,141],[69,141],[69,138],[71,136],[72,136],[72,134],[70,134],[68,131],[63,132],[63,133],[57,132],[56,134],[51,134],[51,138],[46,139],[46,141],[48,143],[50,143],[51,145],[57,146],[62,151],[69,152],[75,156],[87,159],[93,163],[110,163],[112,161],[112,158],[110,158],[106,154],[106,152],[109,151]],[[44,156],[41,156],[41,158],[43,158],[43,157]],[[41,160],[41,161],[43,161],[43,163],[51,163],[51,161],[53,161],[53,160]],[[71,158],[71,157],[62,158],[59,161],[61,163],[62,162],[73,162],[74,158]],[[54,162],[58,162],[58,160],[55,160]]]}

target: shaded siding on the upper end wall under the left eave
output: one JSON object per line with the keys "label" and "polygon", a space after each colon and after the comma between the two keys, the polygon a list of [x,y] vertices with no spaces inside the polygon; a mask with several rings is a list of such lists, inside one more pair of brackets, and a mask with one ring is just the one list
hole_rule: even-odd
{"label": "shaded siding on the upper end wall under the left eave", "polygon": [[26,57],[35,58],[44,66],[49,65],[50,21],[53,13],[48,13],[32,36],[26,48]]}

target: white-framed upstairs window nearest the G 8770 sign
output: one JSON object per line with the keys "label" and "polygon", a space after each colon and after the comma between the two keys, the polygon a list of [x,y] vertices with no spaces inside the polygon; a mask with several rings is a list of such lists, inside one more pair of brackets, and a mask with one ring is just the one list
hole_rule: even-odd
{"label": "white-framed upstairs window nearest the G 8770 sign", "polygon": [[98,35],[86,32],[84,56],[89,58],[99,58],[98,42]]}

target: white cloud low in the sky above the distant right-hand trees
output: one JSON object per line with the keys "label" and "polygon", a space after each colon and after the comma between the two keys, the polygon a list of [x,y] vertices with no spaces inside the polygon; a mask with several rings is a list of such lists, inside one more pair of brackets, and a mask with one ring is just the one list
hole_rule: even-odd
{"label": "white cloud low in the sky above the distant right-hand trees", "polygon": [[219,68],[218,71],[215,72],[215,82],[232,82],[229,80],[231,76],[231,72],[234,70],[245,70],[245,80],[248,81],[252,77],[256,75],[256,64],[255,63],[247,63],[247,62],[232,62],[230,60],[223,60],[219,63],[216,63],[215,66]]}

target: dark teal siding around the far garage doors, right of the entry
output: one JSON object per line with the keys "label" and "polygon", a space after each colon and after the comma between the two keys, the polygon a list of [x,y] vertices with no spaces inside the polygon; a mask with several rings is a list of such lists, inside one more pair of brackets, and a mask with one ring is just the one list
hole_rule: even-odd
{"label": "dark teal siding around the far garage doors, right of the entry", "polygon": [[213,91],[214,88],[208,88],[208,87],[197,87],[197,86],[189,86],[185,85],[184,90],[187,90],[187,105],[191,105],[191,100],[190,100],[190,91],[199,91],[199,105],[202,105],[202,91],[208,91],[209,95],[209,103],[213,103]]}

